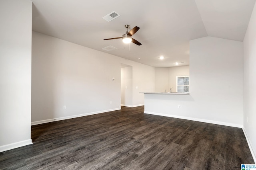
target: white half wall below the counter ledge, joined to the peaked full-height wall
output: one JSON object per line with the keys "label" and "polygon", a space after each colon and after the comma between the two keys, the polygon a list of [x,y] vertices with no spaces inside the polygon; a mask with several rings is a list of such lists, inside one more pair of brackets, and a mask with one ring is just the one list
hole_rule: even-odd
{"label": "white half wall below the counter ledge, joined to the peaked full-height wall", "polygon": [[242,89],[243,43],[195,39],[190,41],[190,94],[145,95],[145,112],[242,127]]}

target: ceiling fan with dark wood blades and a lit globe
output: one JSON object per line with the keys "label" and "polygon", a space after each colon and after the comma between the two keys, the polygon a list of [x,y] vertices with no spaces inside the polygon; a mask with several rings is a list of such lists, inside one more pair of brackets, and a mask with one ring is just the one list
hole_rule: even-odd
{"label": "ceiling fan with dark wood blades and a lit globe", "polygon": [[126,27],[126,33],[122,37],[108,38],[108,39],[104,39],[104,40],[122,38],[124,43],[133,42],[134,44],[141,45],[141,43],[139,41],[137,41],[136,39],[132,38],[132,35],[134,35],[140,29],[140,27],[135,26],[129,32],[128,32],[128,28],[130,28],[130,25],[126,24],[126,25],[124,25],[124,27]]}

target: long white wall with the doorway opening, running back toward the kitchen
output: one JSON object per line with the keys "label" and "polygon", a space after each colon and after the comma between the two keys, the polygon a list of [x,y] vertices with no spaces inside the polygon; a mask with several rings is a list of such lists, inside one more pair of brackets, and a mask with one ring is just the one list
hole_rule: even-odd
{"label": "long white wall with the doorway opening, running back toward the kitchen", "polygon": [[132,66],[132,105],[144,104],[154,67],[32,32],[32,124],[120,109],[121,63]]}

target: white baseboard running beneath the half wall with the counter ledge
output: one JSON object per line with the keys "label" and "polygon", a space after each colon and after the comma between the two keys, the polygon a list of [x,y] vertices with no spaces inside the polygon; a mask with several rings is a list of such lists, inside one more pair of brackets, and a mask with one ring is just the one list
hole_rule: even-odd
{"label": "white baseboard running beneath the half wall with the counter ledge", "polygon": [[186,119],[186,120],[192,120],[192,121],[200,121],[200,122],[204,122],[204,123],[212,123],[212,124],[216,124],[216,125],[224,125],[224,126],[230,126],[230,127],[239,127],[239,128],[242,128],[242,127],[243,127],[243,125],[240,125],[240,124],[227,123],[227,122],[221,122],[221,121],[212,121],[212,120],[206,120],[206,119],[197,119],[197,118],[193,118],[193,117],[169,115],[169,114],[155,113],[155,112],[150,112],[150,111],[144,111],[144,113],[151,114],[151,115],[159,115],[159,116],[166,116],[166,117],[174,117],[174,118],[178,118],[178,119]]}

